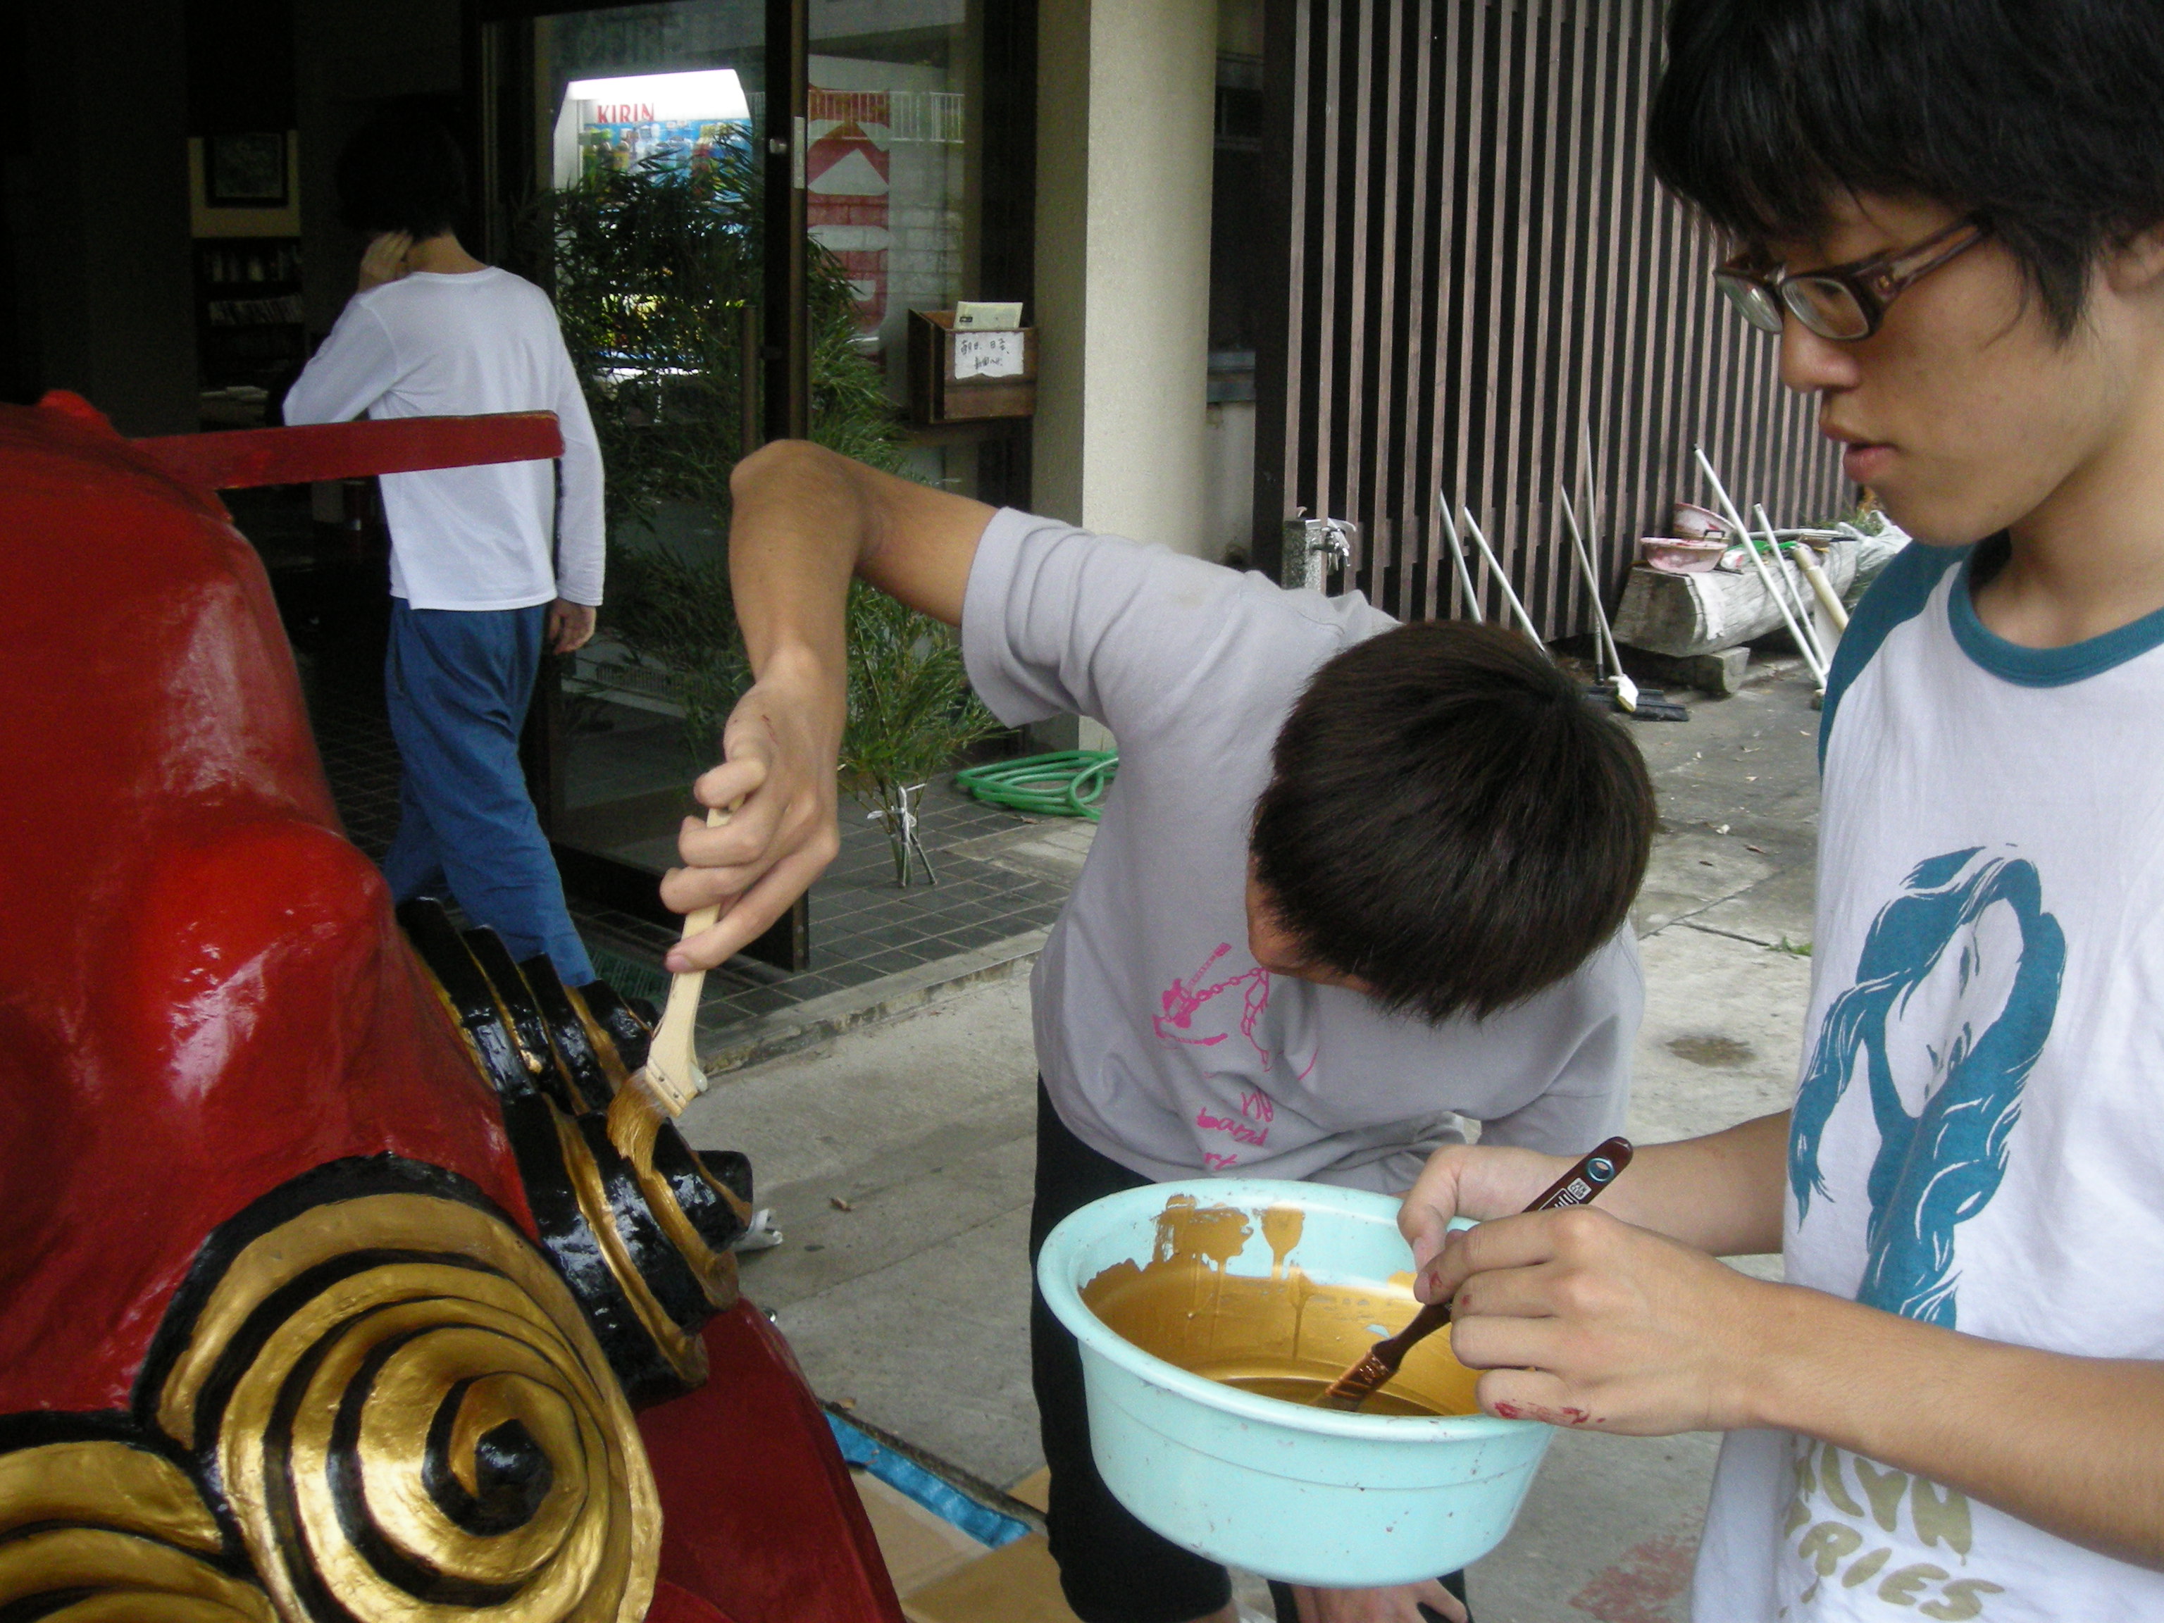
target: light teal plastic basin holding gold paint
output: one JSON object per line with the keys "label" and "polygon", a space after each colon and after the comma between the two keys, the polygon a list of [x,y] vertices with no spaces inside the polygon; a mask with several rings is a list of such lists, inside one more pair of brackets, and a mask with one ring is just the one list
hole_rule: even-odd
{"label": "light teal plastic basin holding gold paint", "polygon": [[1285,1255],[1318,1285],[1381,1285],[1413,1266],[1385,1195],[1266,1179],[1151,1184],[1084,1205],[1037,1259],[1058,1320],[1082,1344],[1091,1452],[1106,1487],[1149,1528],[1199,1556],[1324,1588],[1411,1584],[1478,1560],[1510,1530],[1554,1435],[1489,1415],[1311,1409],[1190,1374],[1110,1331],[1082,1288],[1151,1259],[1173,1197],[1249,1223],[1225,1268],[1268,1277],[1262,1212],[1305,1212]]}

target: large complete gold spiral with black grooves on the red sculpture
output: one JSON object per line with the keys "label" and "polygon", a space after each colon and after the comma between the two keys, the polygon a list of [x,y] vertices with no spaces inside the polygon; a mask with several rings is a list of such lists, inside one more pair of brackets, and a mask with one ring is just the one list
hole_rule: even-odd
{"label": "large complete gold spiral with black grooves on the red sculpture", "polygon": [[214,1448],[286,1619],[638,1623],[660,1506],[569,1290],[502,1218],[422,1192],[240,1249],[158,1394]]}

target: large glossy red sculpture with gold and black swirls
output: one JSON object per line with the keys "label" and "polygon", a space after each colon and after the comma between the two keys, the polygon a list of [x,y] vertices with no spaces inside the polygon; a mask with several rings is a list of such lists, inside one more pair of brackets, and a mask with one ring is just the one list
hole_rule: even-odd
{"label": "large glossy red sculpture with gold and black swirls", "polygon": [[900,1623],[749,1169],[621,1095],[606,989],[400,933],[208,489],[550,424],[294,433],[0,407],[0,1608]]}

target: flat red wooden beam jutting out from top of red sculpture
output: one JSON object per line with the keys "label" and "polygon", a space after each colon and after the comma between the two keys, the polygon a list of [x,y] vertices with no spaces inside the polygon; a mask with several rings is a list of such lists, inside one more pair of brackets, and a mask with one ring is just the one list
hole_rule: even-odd
{"label": "flat red wooden beam jutting out from top of red sculpture", "polygon": [[381,418],[305,428],[229,428],[132,444],[173,478],[232,491],[249,485],[418,474],[426,467],[543,461],[563,454],[563,431],[554,411],[504,411],[487,418]]}

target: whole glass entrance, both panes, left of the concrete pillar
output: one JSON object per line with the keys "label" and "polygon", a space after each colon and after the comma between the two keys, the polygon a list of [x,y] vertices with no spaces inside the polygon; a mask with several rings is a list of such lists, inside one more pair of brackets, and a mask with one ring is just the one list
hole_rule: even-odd
{"label": "whole glass entrance, both panes, left of the concrete pillar", "polygon": [[[576,896],[675,924],[656,883],[744,682],[734,463],[812,435],[1028,502],[1028,422],[909,426],[907,368],[911,312],[1030,294],[1034,6],[478,4],[489,251],[556,296],[610,489],[608,606],[537,695],[535,803]],[[751,952],[805,967],[807,909]]]}

